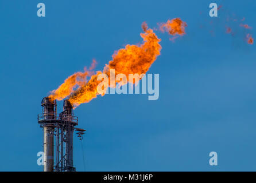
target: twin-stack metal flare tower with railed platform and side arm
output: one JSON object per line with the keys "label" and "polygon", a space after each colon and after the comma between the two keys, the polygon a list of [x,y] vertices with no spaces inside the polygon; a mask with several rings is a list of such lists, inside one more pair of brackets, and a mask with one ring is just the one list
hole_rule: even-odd
{"label": "twin-stack metal flare tower with railed platform and side arm", "polygon": [[[73,116],[73,106],[63,102],[63,112],[57,114],[56,100],[44,97],[41,102],[42,114],[37,120],[44,129],[44,172],[73,172],[73,132],[80,140],[84,129],[75,128],[78,118]],[[56,152],[56,153],[54,153]]]}

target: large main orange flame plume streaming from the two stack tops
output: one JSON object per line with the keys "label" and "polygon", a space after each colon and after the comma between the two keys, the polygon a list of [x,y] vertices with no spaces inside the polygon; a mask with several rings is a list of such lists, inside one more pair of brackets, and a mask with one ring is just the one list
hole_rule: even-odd
{"label": "large main orange flame plume streaming from the two stack tops", "polygon": [[[115,69],[115,75],[122,73],[125,74],[127,78],[129,74],[146,73],[157,56],[160,55],[161,45],[159,42],[161,39],[157,38],[157,35],[152,29],[148,29],[145,22],[142,23],[142,29],[145,31],[145,33],[141,33],[141,37],[144,41],[143,44],[139,46],[126,45],[124,49],[115,51],[112,55],[113,60],[108,62],[103,72],[98,71],[95,75],[91,75],[88,82],[86,81],[88,71],[71,75],[58,89],[51,92],[50,97],[56,100],[63,100],[69,96],[69,101],[76,107],[80,104],[90,102],[99,95],[97,87],[102,81],[98,81],[97,77],[101,73],[108,75],[108,82],[110,82],[110,69]],[[119,82],[121,82],[122,85],[127,83],[127,81]],[[78,88],[74,91],[76,86],[78,86]],[[102,96],[103,95],[104,94],[102,94]]]}

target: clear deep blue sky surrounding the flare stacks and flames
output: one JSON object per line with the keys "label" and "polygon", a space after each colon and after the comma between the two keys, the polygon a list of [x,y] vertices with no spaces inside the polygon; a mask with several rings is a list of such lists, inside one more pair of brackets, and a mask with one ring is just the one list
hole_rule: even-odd
{"label": "clear deep blue sky surrounding the flare stacks and flames", "polygon": [[[39,2],[46,17],[37,17]],[[208,15],[211,2],[223,5],[218,17]],[[234,26],[234,37],[225,33],[227,15],[235,13],[255,37],[255,9],[253,0],[1,0],[0,170],[42,170],[42,97],[92,59],[102,70],[115,50],[142,42],[143,21],[156,27],[180,17],[187,34],[176,42],[156,31],[162,50],[149,73],[160,74],[157,101],[109,94],[75,109],[87,133],[86,167],[78,138],[74,165],[78,171],[255,171],[255,43],[243,40],[242,27]],[[208,164],[211,151],[218,166]]]}

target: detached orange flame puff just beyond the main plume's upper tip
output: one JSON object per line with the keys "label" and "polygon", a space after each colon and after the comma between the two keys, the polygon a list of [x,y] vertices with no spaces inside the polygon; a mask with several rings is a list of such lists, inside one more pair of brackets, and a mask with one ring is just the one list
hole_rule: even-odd
{"label": "detached orange flame puff just beyond the main plume's upper tip", "polygon": [[160,23],[160,31],[164,33],[165,31],[168,32],[171,35],[184,35],[185,34],[185,27],[187,27],[187,23],[181,21],[180,18],[174,18],[166,22],[166,23]]}

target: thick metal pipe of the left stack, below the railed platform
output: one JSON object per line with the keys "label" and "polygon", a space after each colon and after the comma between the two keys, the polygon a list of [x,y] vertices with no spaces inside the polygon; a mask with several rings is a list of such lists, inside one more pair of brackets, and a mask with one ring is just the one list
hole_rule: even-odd
{"label": "thick metal pipe of the left stack, below the railed platform", "polygon": [[53,128],[44,126],[44,172],[53,172]]}

